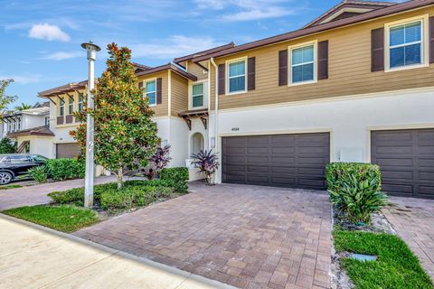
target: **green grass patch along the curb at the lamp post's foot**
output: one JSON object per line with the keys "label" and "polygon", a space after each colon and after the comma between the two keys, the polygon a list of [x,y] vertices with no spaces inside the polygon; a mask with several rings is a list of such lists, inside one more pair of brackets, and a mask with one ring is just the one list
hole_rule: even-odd
{"label": "green grass patch along the curb at the lamp post's foot", "polygon": [[4,210],[4,214],[33,223],[71,233],[99,221],[93,210],[71,206],[33,206]]}

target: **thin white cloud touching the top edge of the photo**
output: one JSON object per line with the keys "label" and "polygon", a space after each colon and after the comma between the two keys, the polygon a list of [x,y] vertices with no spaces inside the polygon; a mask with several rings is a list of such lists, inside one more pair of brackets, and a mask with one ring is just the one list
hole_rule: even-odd
{"label": "thin white cloud touching the top edge of the photo", "polygon": [[[295,14],[299,7],[288,8],[283,0],[194,0],[198,9],[222,10],[223,21],[253,21]],[[291,2],[291,1],[289,1]]]}

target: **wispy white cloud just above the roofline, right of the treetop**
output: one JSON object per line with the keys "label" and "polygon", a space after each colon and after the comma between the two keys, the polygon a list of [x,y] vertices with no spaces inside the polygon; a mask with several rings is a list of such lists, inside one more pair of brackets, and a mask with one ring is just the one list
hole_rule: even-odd
{"label": "wispy white cloud just above the roofline, right of the treetop", "polygon": [[222,45],[212,37],[187,37],[183,35],[170,36],[150,43],[133,44],[129,47],[133,58],[146,57],[169,60],[196,51],[204,51],[215,46]]}

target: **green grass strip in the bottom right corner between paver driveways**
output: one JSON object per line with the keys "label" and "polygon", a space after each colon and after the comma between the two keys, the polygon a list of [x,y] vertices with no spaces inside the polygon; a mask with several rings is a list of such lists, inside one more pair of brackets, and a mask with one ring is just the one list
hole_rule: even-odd
{"label": "green grass strip in the bottom right corner between paver driveways", "polygon": [[396,236],[367,232],[335,231],[335,248],[378,256],[377,261],[342,260],[350,279],[360,289],[424,289],[434,288],[419,260]]}

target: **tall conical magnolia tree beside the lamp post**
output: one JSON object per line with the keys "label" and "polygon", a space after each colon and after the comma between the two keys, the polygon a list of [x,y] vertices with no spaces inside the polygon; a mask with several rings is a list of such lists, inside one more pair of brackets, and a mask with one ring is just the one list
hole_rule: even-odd
{"label": "tall conical magnolia tree beside the lamp post", "polygon": [[146,167],[160,139],[156,123],[151,120],[154,111],[137,86],[131,51],[126,47],[118,49],[115,43],[108,45],[108,51],[107,70],[93,91],[95,107],[85,106],[75,114],[81,124],[71,135],[80,144],[82,155],[86,154],[86,114],[94,117],[95,163],[114,172],[121,189],[125,170]]}

